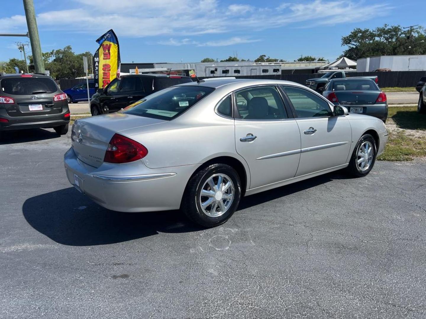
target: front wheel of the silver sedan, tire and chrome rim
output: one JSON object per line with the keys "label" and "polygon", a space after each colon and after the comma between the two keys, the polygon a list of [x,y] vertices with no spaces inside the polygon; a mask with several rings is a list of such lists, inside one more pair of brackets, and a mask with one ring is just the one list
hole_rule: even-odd
{"label": "front wheel of the silver sedan, tire and chrome rim", "polygon": [[349,162],[348,171],[355,177],[364,177],[370,173],[376,162],[377,145],[374,137],[364,134],[355,145]]}

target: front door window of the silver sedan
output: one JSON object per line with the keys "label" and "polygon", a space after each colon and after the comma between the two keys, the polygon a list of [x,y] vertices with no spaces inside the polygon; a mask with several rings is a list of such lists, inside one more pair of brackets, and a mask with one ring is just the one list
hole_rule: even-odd
{"label": "front door window of the silver sedan", "polygon": [[296,110],[297,117],[331,116],[328,103],[317,94],[303,88],[282,86]]}

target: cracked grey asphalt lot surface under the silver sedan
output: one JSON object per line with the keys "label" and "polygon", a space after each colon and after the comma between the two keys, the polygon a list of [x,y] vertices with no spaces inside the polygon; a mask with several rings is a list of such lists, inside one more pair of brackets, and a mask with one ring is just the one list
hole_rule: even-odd
{"label": "cracked grey asphalt lot surface under the silver sedan", "polygon": [[51,130],[0,145],[0,318],[426,317],[425,162],[256,194],[200,229],[91,202],[68,147]]}

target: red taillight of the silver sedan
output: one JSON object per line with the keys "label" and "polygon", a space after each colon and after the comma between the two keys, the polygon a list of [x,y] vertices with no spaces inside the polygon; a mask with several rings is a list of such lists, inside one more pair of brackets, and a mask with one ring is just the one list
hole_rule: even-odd
{"label": "red taillight of the silver sedan", "polygon": [[107,163],[128,163],[147,156],[148,150],[144,145],[124,137],[120,134],[114,134],[109,141],[104,162]]}

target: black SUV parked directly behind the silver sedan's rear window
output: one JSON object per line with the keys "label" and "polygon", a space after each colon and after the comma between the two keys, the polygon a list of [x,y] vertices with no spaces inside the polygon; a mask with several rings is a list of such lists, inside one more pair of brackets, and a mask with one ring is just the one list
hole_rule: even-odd
{"label": "black SUV parked directly behind the silver sedan's rear window", "polygon": [[90,100],[92,115],[120,111],[147,95],[181,83],[192,82],[190,77],[166,74],[133,74],[115,78],[106,88],[98,89]]}

